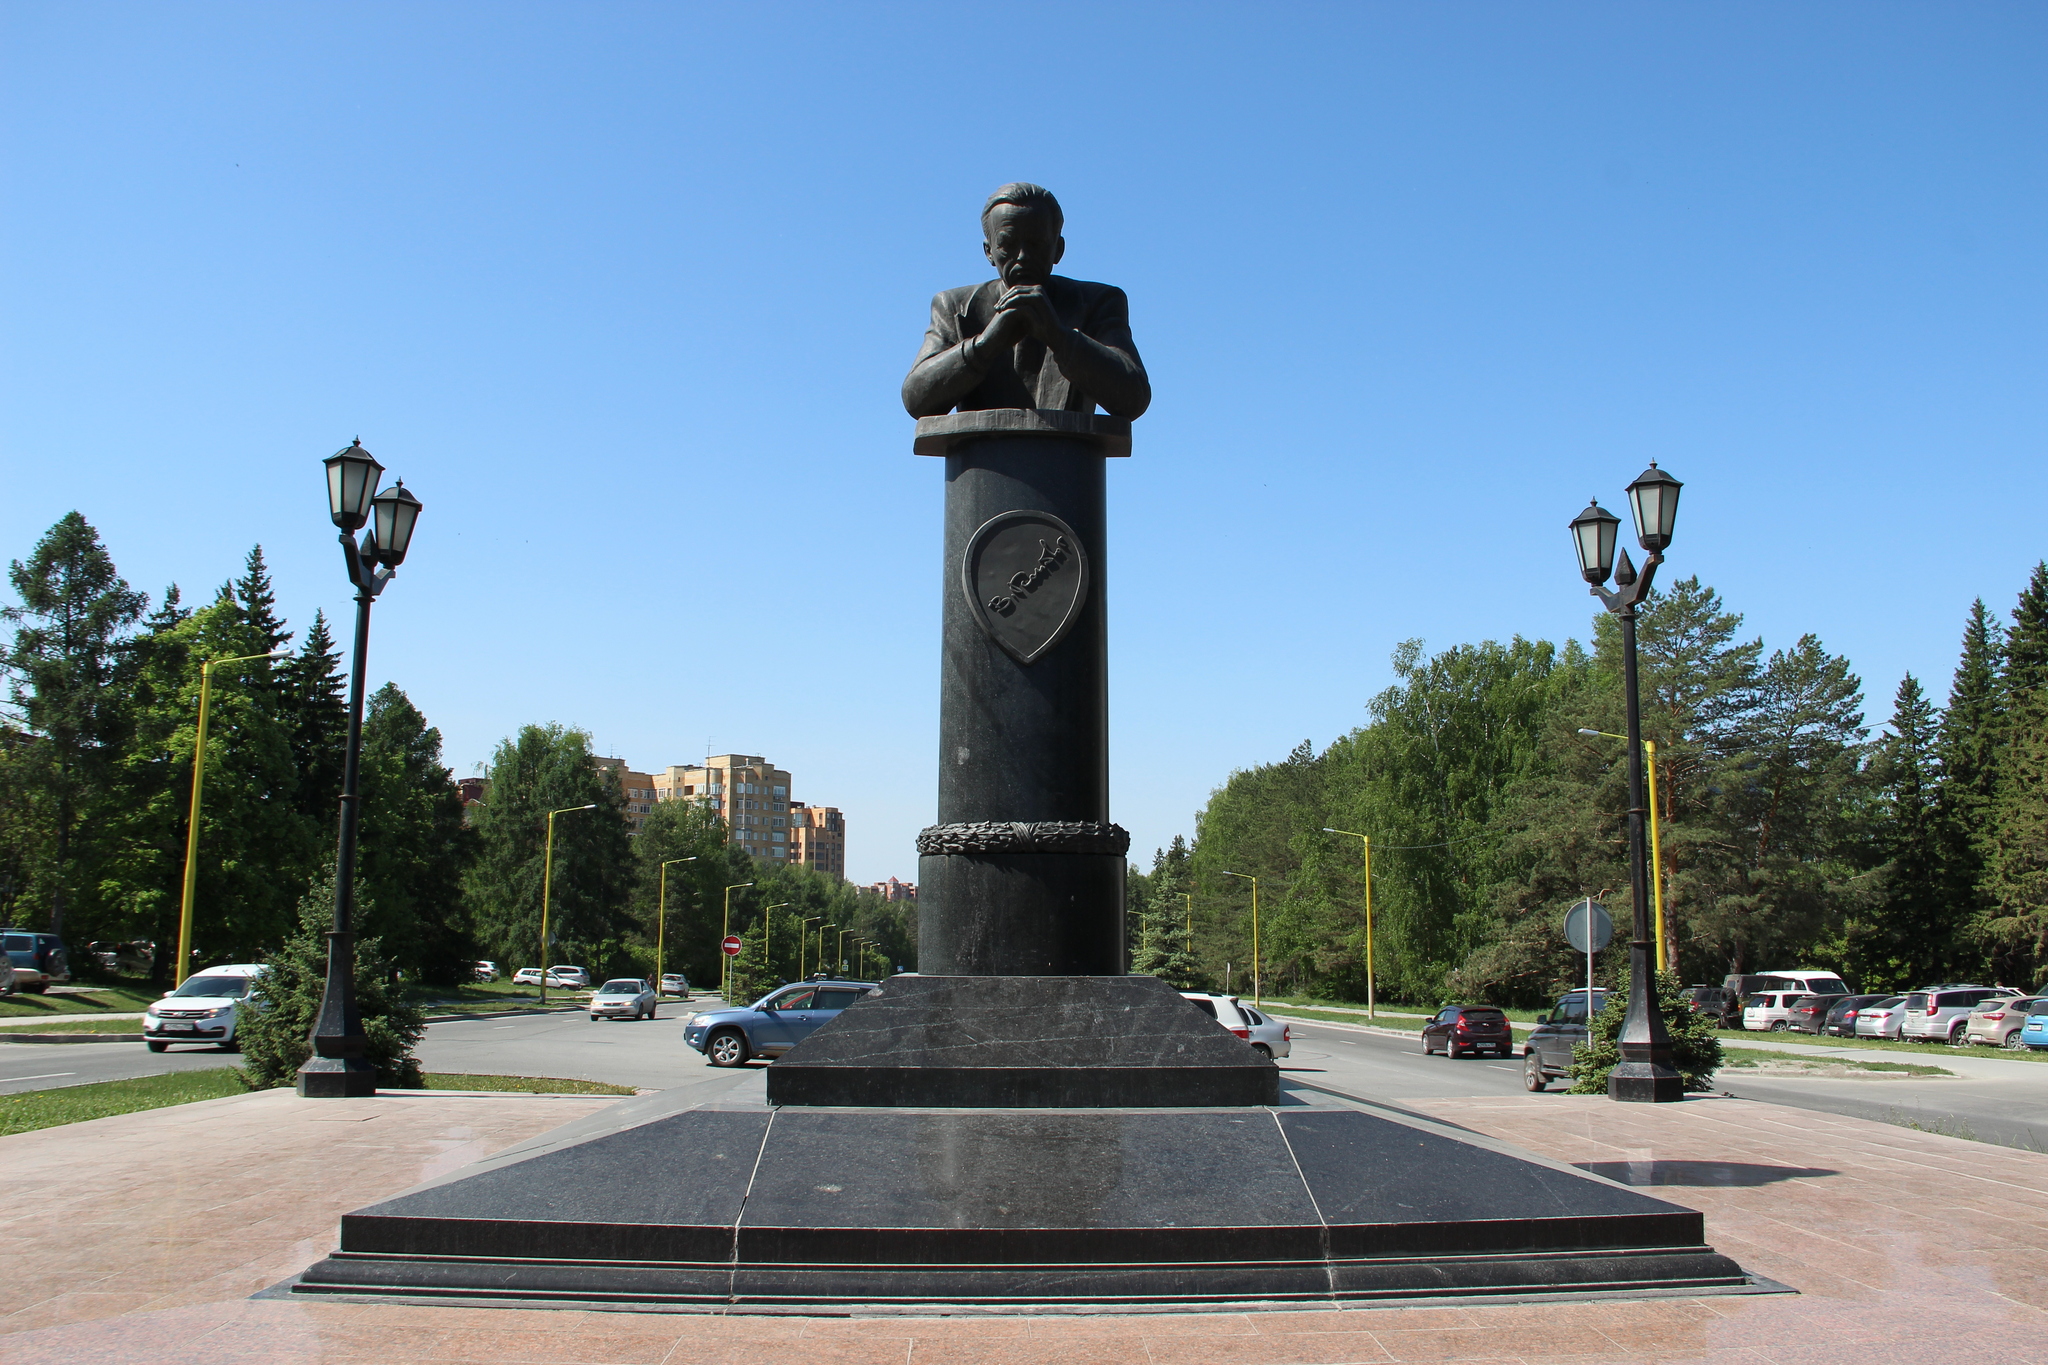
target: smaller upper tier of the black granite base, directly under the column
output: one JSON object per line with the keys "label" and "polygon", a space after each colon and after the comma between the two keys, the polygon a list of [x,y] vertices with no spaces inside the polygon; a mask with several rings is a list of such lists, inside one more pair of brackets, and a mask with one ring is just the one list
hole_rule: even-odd
{"label": "smaller upper tier of the black granite base, directly under the column", "polygon": [[1280,1068],[1153,976],[891,976],[768,1068],[772,1105],[1270,1105]]}

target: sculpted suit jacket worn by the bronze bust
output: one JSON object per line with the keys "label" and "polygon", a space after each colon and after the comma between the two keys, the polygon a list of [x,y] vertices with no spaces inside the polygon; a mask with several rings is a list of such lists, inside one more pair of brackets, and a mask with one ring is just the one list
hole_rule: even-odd
{"label": "sculpted suit jacket worn by the bronze bust", "polygon": [[[1151,403],[1151,381],[1130,340],[1130,303],[1114,284],[1051,276],[1047,295],[1059,321],[1081,334],[1067,358],[1073,375],[1044,342],[1026,336],[1008,356],[995,356],[979,379],[961,344],[981,336],[1004,295],[1001,280],[963,284],[932,299],[932,327],[903,381],[903,407],[913,417],[983,407],[1055,407],[1137,417]],[[1096,391],[1092,393],[1090,387]],[[946,397],[952,395],[952,397]]]}

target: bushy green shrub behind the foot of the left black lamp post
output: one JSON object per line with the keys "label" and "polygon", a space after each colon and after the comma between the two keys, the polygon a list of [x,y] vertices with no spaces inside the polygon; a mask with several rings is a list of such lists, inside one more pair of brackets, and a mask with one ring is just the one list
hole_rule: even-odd
{"label": "bushy green shrub behind the foot of the left black lamp post", "polygon": [[[334,876],[299,900],[299,931],[268,960],[262,999],[268,1009],[242,1011],[236,1033],[248,1058],[244,1076],[252,1091],[293,1085],[299,1066],[313,1054],[313,1021],[328,984],[328,929],[334,925]],[[422,1013],[399,999],[391,962],[377,939],[356,939],[356,1009],[377,1068],[377,1085],[393,1091],[424,1087],[412,1050],[426,1031]]]}

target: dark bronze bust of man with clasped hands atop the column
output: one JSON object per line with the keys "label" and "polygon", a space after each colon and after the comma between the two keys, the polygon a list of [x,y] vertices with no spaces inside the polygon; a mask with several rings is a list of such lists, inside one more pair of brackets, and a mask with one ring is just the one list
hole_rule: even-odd
{"label": "dark bronze bust of man with clasped hands atop the column", "polygon": [[1114,284],[1053,274],[1065,217],[1038,184],[1006,184],[981,209],[983,254],[997,278],[932,299],[932,327],[903,381],[911,417],[952,409],[1042,407],[1137,417],[1151,403],[1130,342],[1130,305]]}

